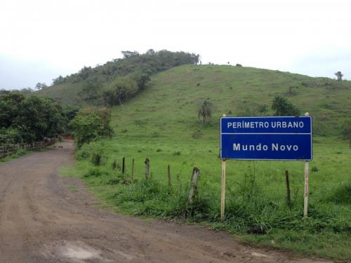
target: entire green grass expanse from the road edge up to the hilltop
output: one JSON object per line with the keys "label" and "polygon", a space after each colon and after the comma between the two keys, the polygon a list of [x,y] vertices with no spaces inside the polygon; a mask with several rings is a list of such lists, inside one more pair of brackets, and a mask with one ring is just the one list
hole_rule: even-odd
{"label": "entire green grass expanse from the road edge up to the hilltop", "polygon": [[[302,218],[303,162],[228,161],[225,222],[220,222],[220,116],[258,115],[263,105],[268,109],[264,114],[270,115],[274,95],[288,97],[313,117],[309,218]],[[120,213],[199,222],[251,244],[347,261],[351,259],[351,149],[338,134],[351,114],[350,98],[350,81],[246,67],[176,67],[155,75],[149,90],[114,107],[114,137],[82,147],[76,165],[62,173],[84,178],[93,194]],[[197,107],[204,100],[214,105],[206,126],[197,119]],[[114,160],[120,164],[123,156],[125,175],[112,170]],[[146,157],[150,180],[143,175]],[[172,187],[167,185],[168,165]],[[194,167],[201,170],[199,195],[188,205]],[[290,207],[285,170],[291,178]]]}

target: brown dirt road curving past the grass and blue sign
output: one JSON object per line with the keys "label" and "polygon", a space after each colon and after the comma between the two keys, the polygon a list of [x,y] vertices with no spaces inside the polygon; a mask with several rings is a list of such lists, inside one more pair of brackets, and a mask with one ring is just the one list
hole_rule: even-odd
{"label": "brown dirt road curving past the grass and blue sign", "polygon": [[80,180],[58,175],[73,159],[72,143],[62,145],[0,165],[1,263],[317,262],[204,227],[100,210]]}

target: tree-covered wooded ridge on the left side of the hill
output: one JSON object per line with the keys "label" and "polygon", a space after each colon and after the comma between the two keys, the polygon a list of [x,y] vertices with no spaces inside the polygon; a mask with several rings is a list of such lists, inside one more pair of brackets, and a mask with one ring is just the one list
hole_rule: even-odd
{"label": "tree-covered wooded ridge on the left side of the hill", "polygon": [[[78,73],[58,76],[51,88],[41,88],[41,94],[64,104],[114,106],[123,104],[147,88],[150,76],[185,64],[197,65],[200,55],[168,50],[122,51],[124,58],[84,67]],[[39,83],[40,87],[42,83]]]}

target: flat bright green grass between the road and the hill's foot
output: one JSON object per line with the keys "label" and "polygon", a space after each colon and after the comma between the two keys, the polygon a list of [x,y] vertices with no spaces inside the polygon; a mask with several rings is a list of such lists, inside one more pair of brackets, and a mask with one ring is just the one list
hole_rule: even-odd
{"label": "flat bright green grass between the road and the hill's foot", "polygon": [[[218,145],[211,141],[197,147],[198,143],[190,142],[164,142],[161,146],[147,140],[98,140],[77,151],[76,165],[62,173],[81,177],[106,208],[119,213],[197,222],[237,234],[239,240],[253,245],[347,261],[351,259],[351,149],[337,139],[317,137],[316,141],[310,167],[317,171],[310,174],[307,220],[302,217],[303,162],[228,161],[225,222],[220,222],[220,159]],[[178,151],[180,154],[175,154]],[[98,166],[93,164],[94,153],[102,155]],[[114,160],[121,164],[123,156],[124,175],[119,168],[112,170]],[[150,159],[149,180],[144,175],[146,156]],[[199,194],[188,205],[193,167],[201,170]],[[291,207],[286,204],[285,170],[290,173]]]}

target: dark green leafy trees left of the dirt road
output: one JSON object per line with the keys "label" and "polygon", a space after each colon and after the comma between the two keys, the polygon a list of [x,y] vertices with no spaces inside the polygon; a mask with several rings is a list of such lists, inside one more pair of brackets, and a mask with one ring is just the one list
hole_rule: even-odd
{"label": "dark green leafy trees left of the dirt road", "polygon": [[29,143],[62,133],[67,117],[58,102],[18,92],[0,93],[0,144]]}

